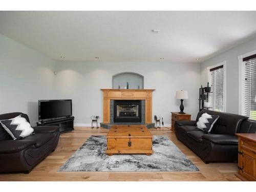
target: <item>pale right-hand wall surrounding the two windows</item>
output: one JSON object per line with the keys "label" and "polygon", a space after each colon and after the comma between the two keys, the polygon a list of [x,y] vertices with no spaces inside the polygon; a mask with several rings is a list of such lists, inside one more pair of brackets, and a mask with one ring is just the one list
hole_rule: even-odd
{"label": "pale right-hand wall surrounding the two windows", "polygon": [[256,50],[256,38],[201,63],[201,84],[207,85],[207,67],[226,61],[226,112],[239,113],[238,56]]}

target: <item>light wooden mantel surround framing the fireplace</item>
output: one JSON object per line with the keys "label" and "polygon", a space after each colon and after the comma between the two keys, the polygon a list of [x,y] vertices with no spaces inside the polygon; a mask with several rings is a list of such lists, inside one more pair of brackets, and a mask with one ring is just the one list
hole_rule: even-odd
{"label": "light wooden mantel surround framing the fireplace", "polygon": [[155,89],[100,89],[103,92],[103,123],[110,123],[111,99],[145,100],[145,123],[152,123],[152,92]]}

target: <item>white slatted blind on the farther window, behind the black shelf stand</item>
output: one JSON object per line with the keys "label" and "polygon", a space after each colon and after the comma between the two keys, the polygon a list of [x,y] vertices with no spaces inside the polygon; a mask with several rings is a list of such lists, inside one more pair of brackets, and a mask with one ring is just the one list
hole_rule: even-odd
{"label": "white slatted blind on the farther window, behind the black shelf stand", "polygon": [[210,69],[212,110],[224,112],[224,68],[223,65]]}

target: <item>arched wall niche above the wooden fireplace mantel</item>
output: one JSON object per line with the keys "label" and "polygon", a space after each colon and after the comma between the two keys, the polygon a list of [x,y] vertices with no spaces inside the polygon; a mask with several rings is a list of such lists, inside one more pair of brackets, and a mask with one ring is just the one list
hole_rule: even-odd
{"label": "arched wall niche above the wooden fireplace mantel", "polygon": [[112,89],[144,89],[144,76],[134,72],[122,72],[112,76]]}

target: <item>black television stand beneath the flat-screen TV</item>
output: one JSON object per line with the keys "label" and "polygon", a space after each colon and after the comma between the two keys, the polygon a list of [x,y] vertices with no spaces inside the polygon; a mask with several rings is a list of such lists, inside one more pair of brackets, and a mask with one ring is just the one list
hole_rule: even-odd
{"label": "black television stand beneath the flat-screen TV", "polygon": [[66,133],[74,130],[74,119],[75,117],[65,117],[49,120],[41,120],[37,122],[37,126],[46,126],[46,125],[57,125],[59,126],[60,133]]}

